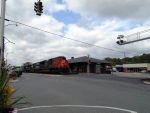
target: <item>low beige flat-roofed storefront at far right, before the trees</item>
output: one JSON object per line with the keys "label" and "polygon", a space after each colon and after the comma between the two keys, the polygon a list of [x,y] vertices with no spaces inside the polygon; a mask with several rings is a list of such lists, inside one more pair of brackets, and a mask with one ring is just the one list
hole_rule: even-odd
{"label": "low beige flat-roofed storefront at far right, before the trees", "polygon": [[150,71],[150,63],[123,64],[124,72],[141,72],[142,70]]}

